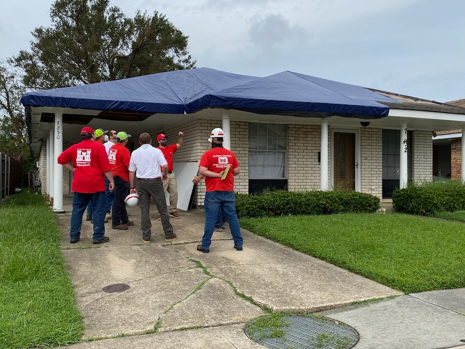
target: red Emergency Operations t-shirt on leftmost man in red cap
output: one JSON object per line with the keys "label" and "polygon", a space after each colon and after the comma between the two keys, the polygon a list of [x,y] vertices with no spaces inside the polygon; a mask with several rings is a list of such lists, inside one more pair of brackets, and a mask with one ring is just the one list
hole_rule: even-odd
{"label": "red Emergency Operations t-shirt on leftmost man in red cap", "polygon": [[84,140],[72,145],[58,156],[58,164],[73,163],[71,190],[82,193],[105,191],[105,172],[111,171],[107,152],[102,144]]}

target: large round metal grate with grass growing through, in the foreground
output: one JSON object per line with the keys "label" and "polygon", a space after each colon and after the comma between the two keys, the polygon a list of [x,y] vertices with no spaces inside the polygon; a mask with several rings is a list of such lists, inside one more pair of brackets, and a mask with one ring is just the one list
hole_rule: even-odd
{"label": "large round metal grate with grass growing through, in the foreground", "polygon": [[272,349],[348,349],[359,338],[355,329],[332,319],[279,313],[254,320],[245,331],[252,341]]}

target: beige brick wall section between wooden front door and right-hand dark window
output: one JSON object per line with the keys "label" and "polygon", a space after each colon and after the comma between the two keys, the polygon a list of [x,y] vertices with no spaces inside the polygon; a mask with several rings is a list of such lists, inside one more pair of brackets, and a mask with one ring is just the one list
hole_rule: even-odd
{"label": "beige brick wall section between wooden front door and right-hand dark window", "polygon": [[360,130],[360,191],[379,198],[383,195],[382,138],[381,129]]}

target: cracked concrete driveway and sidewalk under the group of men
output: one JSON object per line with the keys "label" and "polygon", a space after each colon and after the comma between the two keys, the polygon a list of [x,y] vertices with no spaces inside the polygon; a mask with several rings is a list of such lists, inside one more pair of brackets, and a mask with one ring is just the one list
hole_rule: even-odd
{"label": "cracked concrete driveway and sidewalk under the group of men", "polygon": [[[465,348],[465,289],[403,295],[244,229],[243,251],[226,228],[204,254],[196,250],[203,212],[178,211],[181,218],[171,218],[177,239],[166,243],[155,205],[150,244],[142,242],[139,207],[128,209],[135,221],[128,230],[105,224],[108,243],[93,245],[84,220],[81,241],[70,244],[71,202],[65,197],[59,214],[61,248],[86,324],[83,340],[99,339],[73,349],[264,348],[244,329],[265,307],[341,321],[359,333],[357,349]],[[103,291],[114,284],[130,288]],[[347,306],[389,296],[400,297]]]}

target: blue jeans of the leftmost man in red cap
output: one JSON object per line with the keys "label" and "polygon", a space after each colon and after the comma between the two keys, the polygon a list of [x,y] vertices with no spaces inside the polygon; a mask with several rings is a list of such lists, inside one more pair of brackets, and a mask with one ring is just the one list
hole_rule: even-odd
{"label": "blue jeans of the leftmost man in red cap", "polygon": [[94,240],[102,240],[105,235],[105,191],[95,193],[75,192],[73,194],[73,211],[71,213],[71,228],[69,236],[71,239],[77,239],[81,236],[82,215],[86,207],[95,207],[93,212]]}

